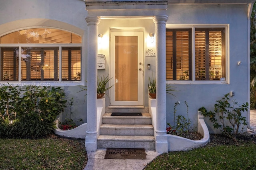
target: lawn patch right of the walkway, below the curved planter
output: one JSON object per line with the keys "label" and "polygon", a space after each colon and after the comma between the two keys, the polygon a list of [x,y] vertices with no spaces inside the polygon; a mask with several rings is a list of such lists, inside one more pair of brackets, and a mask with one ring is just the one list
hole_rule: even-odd
{"label": "lawn patch right of the walkway, below the curved planter", "polygon": [[206,146],[169,152],[155,158],[144,170],[255,170],[256,144]]}

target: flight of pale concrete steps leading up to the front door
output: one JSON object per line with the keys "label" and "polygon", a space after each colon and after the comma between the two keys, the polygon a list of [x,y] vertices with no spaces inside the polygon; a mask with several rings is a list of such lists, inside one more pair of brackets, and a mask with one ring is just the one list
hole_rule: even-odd
{"label": "flight of pale concrete steps leading up to the front door", "polygon": [[144,148],[155,149],[154,128],[149,113],[142,116],[102,117],[98,148]]}

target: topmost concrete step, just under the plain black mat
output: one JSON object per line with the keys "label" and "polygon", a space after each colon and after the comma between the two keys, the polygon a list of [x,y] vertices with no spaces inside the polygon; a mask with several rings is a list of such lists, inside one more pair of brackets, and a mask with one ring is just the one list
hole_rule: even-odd
{"label": "topmost concrete step, just under the plain black mat", "polygon": [[111,116],[111,113],[105,113],[102,116],[102,124],[152,124],[149,113],[142,113],[142,116]]}

